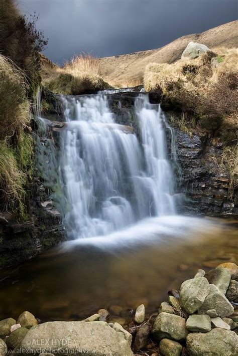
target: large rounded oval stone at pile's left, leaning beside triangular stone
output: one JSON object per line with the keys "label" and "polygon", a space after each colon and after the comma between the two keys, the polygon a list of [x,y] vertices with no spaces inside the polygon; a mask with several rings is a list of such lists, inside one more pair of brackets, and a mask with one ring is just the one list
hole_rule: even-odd
{"label": "large rounded oval stone at pile's left, leaning beside triangular stone", "polygon": [[188,314],[193,314],[204,302],[209,293],[209,283],[204,277],[189,279],[182,283],[180,305]]}

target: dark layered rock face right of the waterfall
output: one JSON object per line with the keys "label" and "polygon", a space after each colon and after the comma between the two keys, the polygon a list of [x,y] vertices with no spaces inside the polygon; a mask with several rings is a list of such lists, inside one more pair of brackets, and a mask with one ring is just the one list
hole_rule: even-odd
{"label": "dark layered rock face right of the waterfall", "polygon": [[183,213],[218,217],[238,214],[237,200],[229,198],[228,171],[221,171],[216,163],[221,154],[218,139],[190,136],[177,130],[177,156],[181,167],[178,187],[186,196]]}

